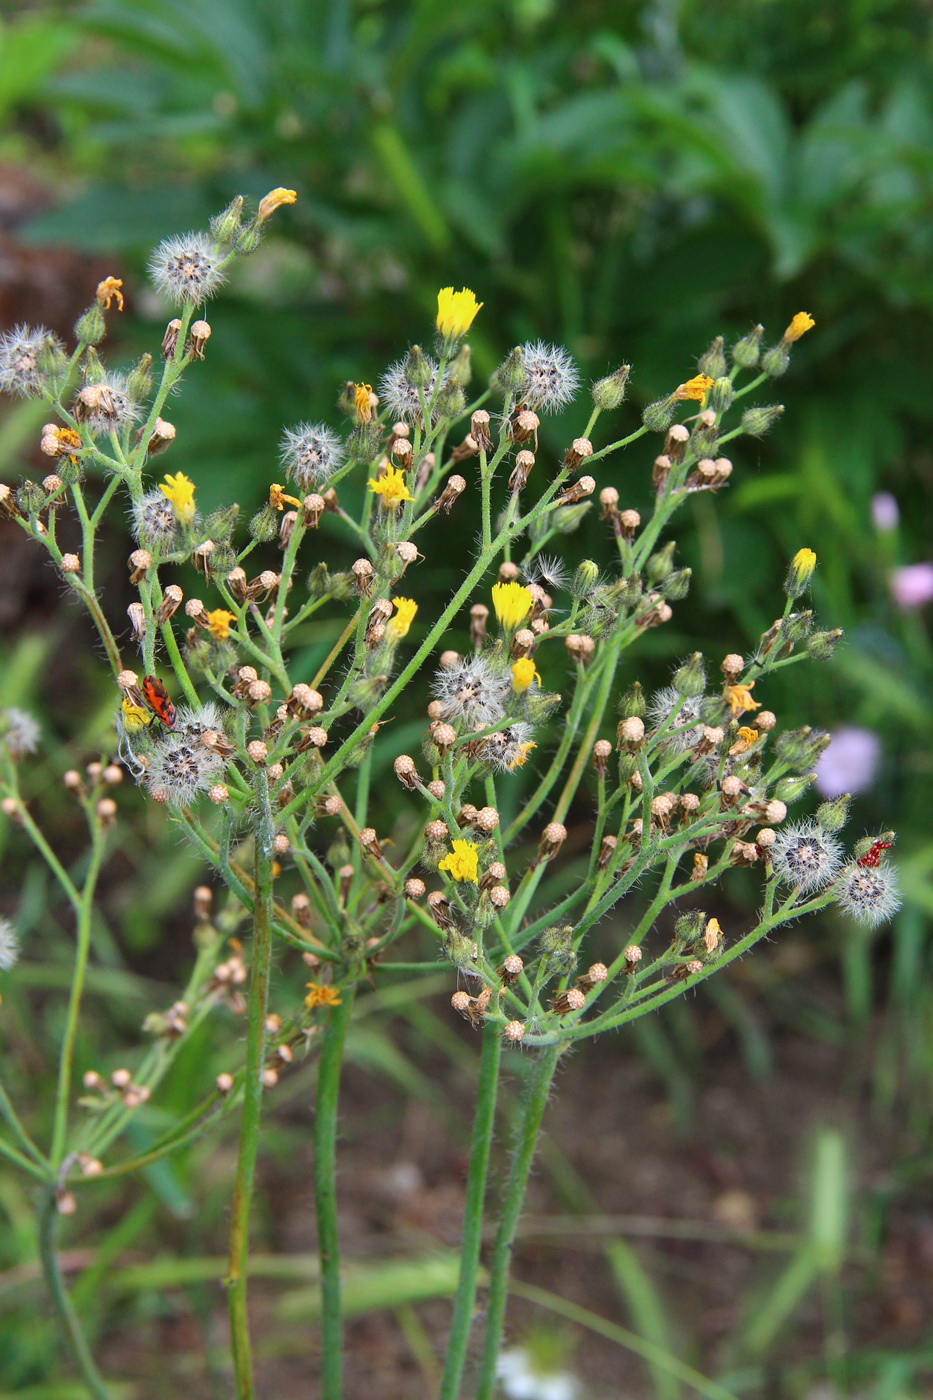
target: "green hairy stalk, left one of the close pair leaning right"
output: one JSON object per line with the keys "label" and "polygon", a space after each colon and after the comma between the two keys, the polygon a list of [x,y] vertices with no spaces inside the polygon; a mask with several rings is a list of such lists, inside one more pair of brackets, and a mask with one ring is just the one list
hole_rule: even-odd
{"label": "green hairy stalk, left one of the close pair leaning right", "polygon": [[476,1112],[469,1145],[469,1170],[466,1175],[466,1203],[464,1207],[464,1236],[459,1249],[459,1277],[454,1298],[454,1316],[447,1340],[444,1375],[438,1400],[457,1400],[464,1375],[466,1347],[474,1324],[476,1303],[476,1270],[479,1268],[479,1247],[483,1231],[483,1204],[486,1200],[486,1176],[496,1120],[496,1091],[499,1088],[499,1060],[502,1037],[496,1025],[483,1026],[483,1046],[479,1060],[479,1085],[476,1089]]}

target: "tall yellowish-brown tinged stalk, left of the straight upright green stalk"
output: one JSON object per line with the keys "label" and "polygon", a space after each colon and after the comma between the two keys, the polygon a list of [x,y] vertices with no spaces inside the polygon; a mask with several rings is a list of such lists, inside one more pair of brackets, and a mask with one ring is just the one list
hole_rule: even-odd
{"label": "tall yellowish-brown tinged stalk, left of the straight upright green stalk", "polygon": [[247,1310],[249,1263],[249,1208],[259,1148],[262,1114],[262,1071],[266,1058],[266,1014],[272,962],[272,812],[265,770],[259,774],[262,816],[255,840],[255,897],[252,909],[252,955],[249,959],[249,1007],[247,1023],[247,1071],[242,1093],[237,1184],[230,1225],[230,1340],[237,1400],[254,1400],[252,1350]]}

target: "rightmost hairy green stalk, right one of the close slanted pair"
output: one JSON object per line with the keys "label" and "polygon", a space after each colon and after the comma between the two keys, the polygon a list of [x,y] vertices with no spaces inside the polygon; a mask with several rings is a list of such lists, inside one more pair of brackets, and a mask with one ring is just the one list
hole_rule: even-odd
{"label": "rightmost hairy green stalk, right one of the close slanted pair", "polygon": [[502,1345],[502,1333],[506,1322],[506,1302],[509,1299],[509,1271],[511,1268],[511,1249],[518,1228],[521,1205],[528,1187],[531,1163],[534,1162],[538,1145],[538,1133],[551,1093],[551,1081],[558,1067],[560,1046],[553,1044],[541,1050],[528,1078],[521,1113],[518,1117],[518,1131],[516,1151],[506,1182],[496,1243],[489,1267],[489,1294],[486,1298],[486,1336],[483,1338],[483,1355],[479,1364],[479,1379],[476,1383],[476,1400],[492,1400],[496,1389],[496,1362]]}

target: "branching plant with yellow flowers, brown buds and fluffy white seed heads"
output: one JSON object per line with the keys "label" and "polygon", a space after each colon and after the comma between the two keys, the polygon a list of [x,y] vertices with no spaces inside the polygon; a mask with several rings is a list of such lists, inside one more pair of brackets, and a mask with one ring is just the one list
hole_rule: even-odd
{"label": "branching plant with yellow flowers, brown buds and fluffy white seed heads", "polygon": [[[156,482],[150,459],[178,449],[163,413],[182,375],[207,351],[212,328],[200,308],[230,262],[258,245],[275,209],[293,199],[289,190],[273,190],[252,218],[242,200],[234,200],[210,232],[172,238],[156,251],[156,286],[178,308],[165,330],[158,377],[148,356],[129,374],[116,374],[98,354],[106,312],[115,301],[122,307],[116,279],[97,288],[70,353],[42,329],[18,328],[0,342],[0,385],[49,406],[41,449],[55,468],[42,482],[0,487],[0,508],[48,552],[94,620],[112,669],[119,759],[66,774],[90,833],[77,883],[21,795],[18,776],[36,746],[35,721],[15,710],[3,715],[3,812],[59,881],[74,911],[77,951],[50,1142],[39,1147],[1,1093],[7,1137],[0,1151],[42,1189],[49,1292],[84,1380],[102,1396],[106,1386],[62,1282],[57,1218],[76,1210],[88,1180],[150,1165],[237,1112],[227,1284],[237,1394],[251,1396],[249,1208],[263,1099],[296,1054],[317,1056],[322,1394],[336,1400],[342,1298],[335,1141],[345,1037],[357,995],[366,995],[373,979],[394,974],[385,960],[389,949],[413,948],[416,970],[436,970],[440,956],[451,967],[452,1014],[476,1028],[482,1042],[441,1400],[454,1400],[464,1385],[502,1053],[521,1047],[531,1057],[516,1151],[495,1211],[474,1378],[475,1396],[489,1400],[513,1240],[559,1057],[682,995],[804,913],[836,903],[877,923],[898,904],[895,875],[884,860],[890,833],[845,855],[838,836],[845,797],[824,802],[814,819],[786,822],[787,806],[813,781],[827,736],[807,727],[779,731],[763,704],[766,682],[801,659],[828,659],[841,636],[818,630],[804,602],[817,567],[813,550],[800,549],[790,561],[780,616],[748,657],[728,652],[710,673],[695,652],[653,696],[637,682],[626,689],[618,682],[628,648],[663,627],[689,587],[674,543],[661,542],[664,531],[692,496],[716,494],[728,483],[733,463],[721,455],[727,442],[761,435],[780,416],[780,405],[752,405],[737,421],[734,410],[786,371],[793,343],[813,321],[797,314],[766,349],[761,326],[728,356],[721,339],[713,340],[696,374],[649,405],[640,426],[597,447],[597,426],[625,400],[630,371],[622,365],[591,386],[580,435],[545,472],[538,466],[541,416],[573,402],[576,365],[560,347],[516,347],[471,402],[465,336],[482,302],[472,291],[447,287],[438,294],[433,356],[412,346],[385,371],[378,393],[368,384],[346,384],[339,398],[343,431],[303,423],[284,433],[284,480],[269,483],[244,539],[235,505],[202,515],[196,480],[175,470]],[[745,384],[744,374],[751,374]],[[590,473],[651,434],[661,452],[650,469],[651,510],[643,521],[621,503],[616,487],[607,484],[597,494]],[[472,487],[461,472],[472,475]],[[356,514],[340,490],[350,473],[368,487]],[[530,489],[532,473],[545,477],[538,494]],[[482,514],[475,557],[440,615],[420,626],[419,545],[438,514],[450,514],[471,489]],[[560,540],[580,526],[594,494],[612,561],[584,560],[569,573]],[[98,529],[120,497],[134,535],[129,570],[137,598],[127,609],[126,644],[132,664],[95,585]],[[60,543],[66,511],[77,519],[78,552]],[[321,560],[303,575],[308,542],[329,521],[345,538],[349,532],[359,557],[333,568]],[[556,557],[545,554],[548,547]],[[335,545],[335,559],[339,549]],[[263,567],[252,563],[254,552]],[[175,580],[188,564],[199,584],[185,596]],[[339,617],[339,636],[307,675],[307,624],[325,610]],[[548,687],[558,675],[565,693]],[[370,819],[371,774],[377,746],[391,745],[380,735],[384,717],[406,690],[426,704],[427,721],[420,756],[392,756],[405,797],[389,854],[389,833],[380,834]],[[556,715],[562,728],[552,746],[548,721]],[[517,799],[510,788],[542,756],[537,781],[521,787]],[[196,892],[198,958],[188,986],[172,1007],[147,1019],[154,1043],[132,1072],[118,1070],[109,1081],[94,1070],[84,1074],[81,1116],[73,1103],[76,1035],[95,890],[123,771],[164,809],[226,886],[230,904],[216,916],[212,888]],[[562,872],[572,818],[586,858],[567,889]],[[762,879],[759,916],[741,932],[723,930],[699,904],[735,867],[752,868]],[[629,914],[636,906],[626,909],[625,902],[636,886],[649,893]],[[658,918],[678,900],[686,910],[672,938],[658,944]],[[591,960],[588,935],[614,911],[614,927],[623,930],[618,946],[607,962]],[[248,946],[233,941],[224,951],[241,920],[251,925]],[[276,987],[273,944],[286,959],[304,959],[311,972],[303,1002]],[[4,925],[4,972],[15,962],[15,946],[14,931]],[[220,1004],[247,1018],[242,1065],[221,1074],[193,1114],[133,1156],[123,1145],[133,1114]]]}

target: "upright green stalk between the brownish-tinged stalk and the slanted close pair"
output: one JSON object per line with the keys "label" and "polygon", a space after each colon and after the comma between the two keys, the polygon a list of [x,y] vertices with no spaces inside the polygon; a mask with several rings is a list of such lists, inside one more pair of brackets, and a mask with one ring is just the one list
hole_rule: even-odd
{"label": "upright green stalk between the brownish-tinged stalk and the slanted close pair", "polygon": [[343,1309],[340,1239],[336,1215],[336,1126],[343,1043],[353,1008],[353,986],[331,1007],[324,1029],[314,1107],[314,1207],[321,1259],[321,1400],[340,1400],[343,1387]]}

